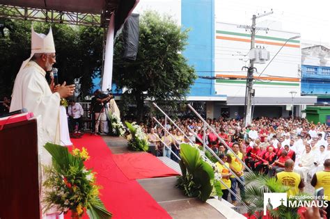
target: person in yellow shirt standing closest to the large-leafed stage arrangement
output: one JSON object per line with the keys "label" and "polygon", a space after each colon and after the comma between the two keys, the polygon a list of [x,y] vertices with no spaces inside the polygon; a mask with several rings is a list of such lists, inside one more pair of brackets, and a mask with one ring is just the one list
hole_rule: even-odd
{"label": "person in yellow shirt standing closest to the large-leafed stage arrangement", "polygon": [[[216,163],[218,170],[221,173],[221,177],[222,177],[221,180],[223,181],[224,184],[226,184],[226,186],[228,188],[230,188],[231,182],[230,182],[229,177],[232,175],[232,173],[229,172],[229,170],[228,170],[229,163],[227,163],[227,156],[225,154],[219,154],[219,159],[221,159],[221,161],[225,164],[225,165],[223,165],[220,162]],[[228,190],[228,188],[226,188],[226,186],[223,186],[223,184],[221,184],[221,190],[223,193],[222,198],[224,200],[228,201],[229,190]]]}

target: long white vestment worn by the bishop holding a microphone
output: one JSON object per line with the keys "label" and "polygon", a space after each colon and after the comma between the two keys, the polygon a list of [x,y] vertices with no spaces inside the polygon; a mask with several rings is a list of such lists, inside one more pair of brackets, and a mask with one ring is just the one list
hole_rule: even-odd
{"label": "long white vestment worn by the bishop holding a microphone", "polygon": [[[45,75],[45,70],[34,61],[29,61],[19,70],[15,79],[10,112],[26,108],[27,111],[38,117],[38,154],[40,165],[51,165],[52,156],[43,146],[47,142],[60,144],[59,107],[61,98],[58,92],[52,93]],[[41,178],[42,181],[45,181],[45,176],[42,175],[42,172]],[[42,197],[40,197],[41,200]],[[56,210],[48,211],[47,213],[54,212]]]}

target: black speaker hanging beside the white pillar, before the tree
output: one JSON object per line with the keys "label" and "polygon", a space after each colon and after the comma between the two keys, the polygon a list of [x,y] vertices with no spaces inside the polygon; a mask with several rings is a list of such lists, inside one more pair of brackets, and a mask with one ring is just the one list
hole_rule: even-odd
{"label": "black speaker hanging beside the white pillar, before the tree", "polygon": [[135,60],[139,48],[139,14],[129,15],[123,27],[123,58]]}

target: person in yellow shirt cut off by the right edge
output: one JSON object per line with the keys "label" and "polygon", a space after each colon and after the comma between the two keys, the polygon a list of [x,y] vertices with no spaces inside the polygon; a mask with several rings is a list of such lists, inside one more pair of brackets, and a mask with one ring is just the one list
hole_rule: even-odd
{"label": "person in yellow shirt cut off by the right edge", "polygon": [[328,201],[327,218],[330,218],[330,159],[324,161],[324,170],[316,172],[311,180],[311,185],[317,188],[324,188],[324,200]]}

